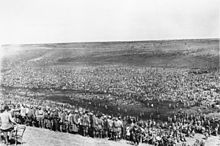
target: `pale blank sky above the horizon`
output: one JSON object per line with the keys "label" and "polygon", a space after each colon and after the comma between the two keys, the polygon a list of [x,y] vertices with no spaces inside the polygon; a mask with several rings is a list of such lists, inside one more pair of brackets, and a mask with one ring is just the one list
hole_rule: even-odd
{"label": "pale blank sky above the horizon", "polygon": [[0,0],[0,44],[219,38],[219,0]]}

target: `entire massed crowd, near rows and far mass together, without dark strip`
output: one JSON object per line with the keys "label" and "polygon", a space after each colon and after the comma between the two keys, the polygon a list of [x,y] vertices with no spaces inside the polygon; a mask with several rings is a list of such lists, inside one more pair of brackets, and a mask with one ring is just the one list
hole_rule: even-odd
{"label": "entire massed crowd, near rows and far mass together, without dark strip", "polygon": [[[89,98],[91,102],[95,98],[105,98],[109,104],[120,106],[139,104],[141,107],[151,100],[180,102],[185,109],[220,104],[219,72],[126,65],[44,66],[42,61],[47,64],[47,60],[27,61],[5,69],[1,89],[78,91],[79,98]],[[53,131],[112,140],[127,139],[137,145],[139,142],[185,144],[186,137],[193,137],[195,133],[204,134],[206,139],[219,133],[219,121],[206,117],[202,112],[187,113],[183,110],[164,121],[153,118],[144,121],[129,114],[108,115],[16,93],[1,96],[4,97],[2,112],[6,105],[9,106],[16,123]],[[110,100],[112,98],[114,100]],[[204,142],[197,144],[204,145]]]}

